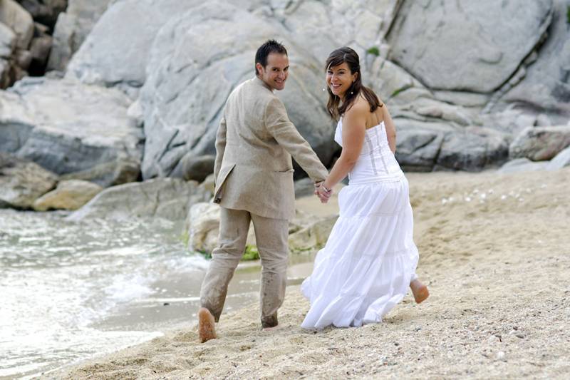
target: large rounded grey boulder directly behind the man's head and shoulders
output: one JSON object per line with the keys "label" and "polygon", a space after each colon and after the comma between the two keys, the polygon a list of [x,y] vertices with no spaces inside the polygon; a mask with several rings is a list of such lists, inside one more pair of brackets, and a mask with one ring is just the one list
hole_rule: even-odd
{"label": "large rounded grey boulder directly behind the man's head and shoulders", "polygon": [[[152,46],[148,78],[140,93],[146,135],[143,178],[171,175],[189,153],[215,153],[215,134],[227,96],[254,76],[255,51],[276,35],[284,35],[279,24],[216,2],[165,24]],[[204,36],[215,36],[216,43]],[[328,163],[334,130],[320,90],[323,73],[296,44],[284,43],[291,57],[291,73],[278,96],[299,132],[323,163]]]}

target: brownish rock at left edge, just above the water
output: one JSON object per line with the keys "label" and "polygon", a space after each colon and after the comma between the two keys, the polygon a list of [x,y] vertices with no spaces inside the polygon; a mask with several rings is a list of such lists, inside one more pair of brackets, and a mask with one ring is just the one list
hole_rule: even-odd
{"label": "brownish rock at left edge, just above the water", "polygon": [[0,152],[0,207],[30,208],[57,180],[36,163]]}

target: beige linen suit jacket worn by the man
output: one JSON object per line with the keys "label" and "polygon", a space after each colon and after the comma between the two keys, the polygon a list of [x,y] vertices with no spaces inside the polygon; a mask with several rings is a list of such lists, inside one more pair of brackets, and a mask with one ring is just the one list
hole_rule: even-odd
{"label": "beige linen suit jacket worn by the man", "polygon": [[255,77],[232,91],[216,135],[214,202],[274,219],[295,217],[293,156],[312,180],[328,170],[289,121],[285,106]]}

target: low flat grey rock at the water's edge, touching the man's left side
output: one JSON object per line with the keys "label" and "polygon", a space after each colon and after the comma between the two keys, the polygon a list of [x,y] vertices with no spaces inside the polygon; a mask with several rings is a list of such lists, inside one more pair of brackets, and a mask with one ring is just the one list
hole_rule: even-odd
{"label": "low flat grey rock at the water's edge, touching the man's left side", "polygon": [[100,192],[69,220],[105,218],[125,220],[133,217],[162,217],[185,220],[191,205],[209,199],[209,193],[195,181],[156,178],[142,183],[126,183]]}

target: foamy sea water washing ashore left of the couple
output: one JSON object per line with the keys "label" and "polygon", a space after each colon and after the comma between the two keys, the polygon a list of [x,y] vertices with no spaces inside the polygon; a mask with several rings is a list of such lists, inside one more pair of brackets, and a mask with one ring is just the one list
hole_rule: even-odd
{"label": "foamy sea water washing ashore left of the couple", "polygon": [[[41,374],[191,327],[208,261],[162,219],[70,222],[0,210],[0,379]],[[239,270],[226,309],[259,299]]]}

